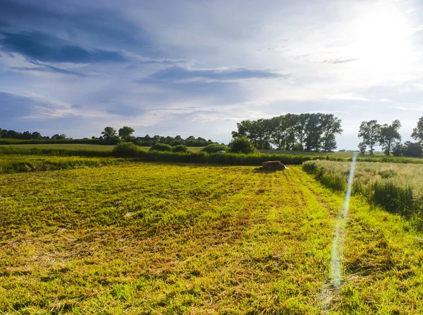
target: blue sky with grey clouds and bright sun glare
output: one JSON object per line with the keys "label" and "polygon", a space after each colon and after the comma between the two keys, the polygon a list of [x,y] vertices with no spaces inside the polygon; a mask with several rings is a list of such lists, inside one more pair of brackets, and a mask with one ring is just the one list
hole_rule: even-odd
{"label": "blue sky with grey clouds and bright sun glare", "polygon": [[423,1],[0,0],[0,128],[228,143],[286,113],[423,116]]}

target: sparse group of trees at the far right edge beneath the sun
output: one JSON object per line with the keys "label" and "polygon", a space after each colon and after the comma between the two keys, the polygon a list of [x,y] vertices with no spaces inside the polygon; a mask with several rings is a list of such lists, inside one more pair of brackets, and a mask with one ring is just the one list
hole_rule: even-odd
{"label": "sparse group of trees at the far right edge beneath the sun", "polygon": [[421,157],[423,150],[423,117],[419,118],[417,126],[413,129],[411,137],[417,142],[406,141],[401,143],[400,135],[401,123],[398,119],[391,124],[379,124],[375,119],[363,121],[358,131],[358,137],[362,141],[358,145],[360,153],[364,154],[367,150],[373,155],[374,147],[381,145],[385,155],[391,153],[395,156]]}

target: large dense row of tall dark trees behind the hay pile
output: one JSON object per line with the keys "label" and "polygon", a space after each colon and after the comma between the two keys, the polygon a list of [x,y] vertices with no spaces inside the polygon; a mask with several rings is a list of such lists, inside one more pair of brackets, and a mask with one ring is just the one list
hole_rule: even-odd
{"label": "large dense row of tall dark trees behind the hay pile", "polygon": [[247,137],[258,149],[324,151],[337,148],[341,119],[333,114],[285,114],[270,119],[244,120],[232,131],[233,138]]}

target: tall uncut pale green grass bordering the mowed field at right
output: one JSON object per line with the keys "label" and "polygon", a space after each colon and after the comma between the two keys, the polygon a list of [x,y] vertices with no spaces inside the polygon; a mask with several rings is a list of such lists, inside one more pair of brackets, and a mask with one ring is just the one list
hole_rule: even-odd
{"label": "tall uncut pale green grass bordering the mowed field at right", "polygon": [[[322,184],[344,191],[350,172],[349,162],[307,161],[303,169],[315,175]],[[357,162],[353,194],[398,213],[423,230],[423,165],[386,162]]]}

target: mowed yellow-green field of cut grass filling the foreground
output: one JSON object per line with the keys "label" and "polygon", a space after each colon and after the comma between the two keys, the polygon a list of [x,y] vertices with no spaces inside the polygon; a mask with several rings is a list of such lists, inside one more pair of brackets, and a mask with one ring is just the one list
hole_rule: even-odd
{"label": "mowed yellow-green field of cut grass filling the foreground", "polygon": [[423,248],[301,167],[125,163],[0,175],[0,313],[421,314]]}

